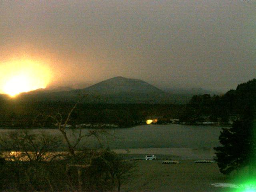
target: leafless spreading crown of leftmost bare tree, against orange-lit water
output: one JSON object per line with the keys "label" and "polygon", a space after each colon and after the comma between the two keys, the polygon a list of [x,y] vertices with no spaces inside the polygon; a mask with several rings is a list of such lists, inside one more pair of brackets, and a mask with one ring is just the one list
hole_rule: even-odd
{"label": "leafless spreading crown of leftmost bare tree, against orange-lit water", "polygon": [[62,143],[58,136],[31,134],[29,131],[12,131],[0,136],[0,145],[6,159],[20,162],[52,161],[58,154],[54,152]]}

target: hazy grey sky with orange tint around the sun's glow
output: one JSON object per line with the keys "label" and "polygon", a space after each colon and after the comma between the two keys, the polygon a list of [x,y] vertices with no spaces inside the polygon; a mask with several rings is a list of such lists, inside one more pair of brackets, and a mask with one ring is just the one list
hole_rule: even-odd
{"label": "hazy grey sky with orange tint around the sun's glow", "polygon": [[58,85],[225,91],[256,78],[256,1],[0,0],[0,65],[13,58],[44,60]]}

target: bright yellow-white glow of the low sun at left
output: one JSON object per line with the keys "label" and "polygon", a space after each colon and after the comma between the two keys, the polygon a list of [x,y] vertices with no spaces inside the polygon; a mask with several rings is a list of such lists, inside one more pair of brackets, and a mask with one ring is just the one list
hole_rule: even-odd
{"label": "bright yellow-white glow of the low sun at left", "polygon": [[50,69],[34,60],[16,60],[1,66],[0,93],[12,97],[22,93],[46,88],[51,80]]}

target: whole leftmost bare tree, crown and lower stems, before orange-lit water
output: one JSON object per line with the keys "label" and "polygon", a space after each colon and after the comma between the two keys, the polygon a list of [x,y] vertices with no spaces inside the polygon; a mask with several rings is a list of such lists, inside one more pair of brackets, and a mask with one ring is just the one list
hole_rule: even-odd
{"label": "whole leftmost bare tree, crown and lower stems, before orange-lit water", "polygon": [[[42,168],[42,162],[54,160],[59,154],[56,149],[62,140],[58,136],[50,134],[31,134],[29,131],[11,131],[0,136],[0,146],[2,156],[9,160],[11,168],[16,177],[16,184],[20,191],[22,188],[22,178],[29,176],[31,186],[40,187],[38,182],[46,182],[53,191],[48,172]],[[26,162],[30,166],[26,166]],[[38,171],[40,170],[40,171]],[[36,182],[32,178],[38,176]]]}

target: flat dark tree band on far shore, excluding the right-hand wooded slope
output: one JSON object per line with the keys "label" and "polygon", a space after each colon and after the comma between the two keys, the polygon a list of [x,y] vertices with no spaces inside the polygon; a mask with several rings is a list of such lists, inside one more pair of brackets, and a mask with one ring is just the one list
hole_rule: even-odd
{"label": "flat dark tree band on far shore, excluding the right-hand wooded slope", "polygon": [[[2,128],[56,128],[52,119],[42,116],[60,112],[63,116],[75,102],[19,102],[0,100]],[[119,128],[145,123],[147,118],[163,121],[178,118],[184,105],[177,104],[85,104],[80,103],[71,115],[69,124],[115,124]],[[31,123],[33,122],[33,124]]]}

